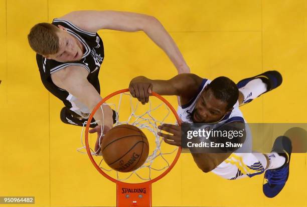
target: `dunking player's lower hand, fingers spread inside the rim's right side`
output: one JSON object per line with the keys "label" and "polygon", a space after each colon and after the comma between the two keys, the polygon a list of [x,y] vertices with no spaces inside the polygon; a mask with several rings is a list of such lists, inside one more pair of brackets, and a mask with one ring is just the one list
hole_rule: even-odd
{"label": "dunking player's lower hand, fingers spread inside the rim's right side", "polygon": [[181,126],[164,123],[158,126],[158,128],[171,133],[171,134],[166,134],[166,133],[158,132],[158,135],[162,136],[163,140],[166,143],[176,145],[176,146],[181,146]]}

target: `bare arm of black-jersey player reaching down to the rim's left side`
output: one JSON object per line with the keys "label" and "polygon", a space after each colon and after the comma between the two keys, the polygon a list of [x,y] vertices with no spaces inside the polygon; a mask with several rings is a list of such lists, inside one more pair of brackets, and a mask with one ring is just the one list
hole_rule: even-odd
{"label": "bare arm of black-jersey player reaching down to the rim's left side", "polygon": [[[88,71],[84,67],[73,65],[52,73],[51,78],[54,84],[77,97],[92,111],[102,98],[94,86],[88,82],[87,75]],[[94,118],[95,120],[104,120],[105,129],[108,130],[113,126],[113,112],[108,105],[102,105],[102,108],[103,114],[99,108]],[[98,124],[101,123],[98,122]]]}

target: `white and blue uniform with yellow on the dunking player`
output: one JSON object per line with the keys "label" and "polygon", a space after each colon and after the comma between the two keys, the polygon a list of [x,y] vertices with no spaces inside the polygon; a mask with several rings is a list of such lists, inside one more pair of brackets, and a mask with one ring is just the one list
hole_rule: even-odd
{"label": "white and blue uniform with yellow on the dunking player", "polygon": [[[178,107],[177,113],[179,117],[188,123],[192,123],[189,119],[189,114],[193,111],[195,104],[200,97],[205,86],[208,85],[211,80],[203,79],[198,94],[192,98],[189,103],[181,105]],[[230,123],[233,121],[241,121],[245,123],[242,112],[239,109],[238,101],[233,106],[231,113],[226,114],[220,121],[214,123],[213,127],[217,128],[225,123]],[[212,124],[210,124],[212,127]],[[249,127],[245,124],[246,138],[242,144],[242,147],[236,149],[226,160],[219,164],[215,169],[212,170],[213,173],[220,175],[226,179],[237,179],[244,176],[254,176],[256,174],[261,174],[264,171],[263,166],[260,161],[251,153],[252,152],[252,139]],[[246,153],[249,152],[249,153]]]}

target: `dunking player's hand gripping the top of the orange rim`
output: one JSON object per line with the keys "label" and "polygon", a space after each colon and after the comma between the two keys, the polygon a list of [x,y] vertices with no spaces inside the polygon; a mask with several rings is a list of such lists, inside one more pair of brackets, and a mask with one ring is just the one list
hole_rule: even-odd
{"label": "dunking player's hand gripping the top of the orange rim", "polygon": [[149,101],[149,95],[152,93],[152,84],[142,79],[134,78],[129,84],[129,91],[133,97],[145,104]]}

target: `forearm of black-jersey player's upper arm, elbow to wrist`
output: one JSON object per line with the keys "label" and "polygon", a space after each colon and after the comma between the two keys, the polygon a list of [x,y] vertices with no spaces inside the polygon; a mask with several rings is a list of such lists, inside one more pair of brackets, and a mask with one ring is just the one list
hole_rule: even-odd
{"label": "forearm of black-jersey player's upper arm, elbow to wrist", "polygon": [[181,54],[178,46],[163,27],[159,20],[155,17],[151,17],[149,22],[144,25],[143,31],[154,41],[165,53],[169,56],[173,64],[178,70],[178,73],[190,72],[190,68],[187,65],[183,55]]}

